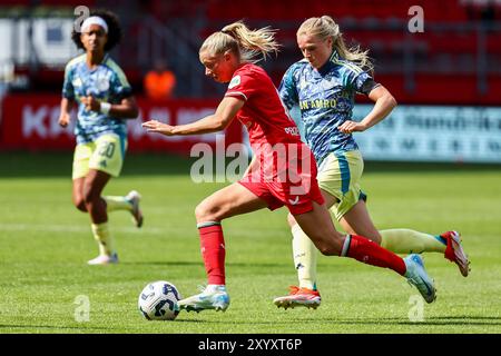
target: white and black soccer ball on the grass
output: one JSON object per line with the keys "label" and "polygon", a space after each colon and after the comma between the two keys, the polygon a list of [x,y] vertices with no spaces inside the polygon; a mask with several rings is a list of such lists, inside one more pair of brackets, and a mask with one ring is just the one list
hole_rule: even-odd
{"label": "white and black soccer ball on the grass", "polygon": [[179,314],[181,297],[175,285],[165,280],[148,284],[138,299],[139,312],[148,320],[174,320]]}

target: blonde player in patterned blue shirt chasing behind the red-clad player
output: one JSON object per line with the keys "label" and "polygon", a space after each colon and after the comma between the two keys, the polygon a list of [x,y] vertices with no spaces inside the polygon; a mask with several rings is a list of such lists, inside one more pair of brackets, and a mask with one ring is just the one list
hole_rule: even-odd
{"label": "blonde player in patterned blue shirt chasing behind the red-clad player", "polygon": [[[363,158],[352,132],[364,131],[383,120],[396,101],[373,80],[366,52],[347,49],[338,26],[328,16],[304,21],[297,31],[297,43],[304,59],[288,68],[279,95],[287,109],[301,111],[294,119],[315,156],[318,186],[326,205],[343,229],[371,238],[396,254],[442,253],[459,266],[464,277],[468,276],[470,261],[456,231],[435,236],[410,229],[379,231],[370,218],[366,196],[360,187]],[[361,122],[352,121],[356,92],[366,95],[375,103]],[[317,251],[292,215],[288,222],[299,286],[291,286],[289,295],[274,303],[284,308],[316,308],[321,304],[316,285]]]}

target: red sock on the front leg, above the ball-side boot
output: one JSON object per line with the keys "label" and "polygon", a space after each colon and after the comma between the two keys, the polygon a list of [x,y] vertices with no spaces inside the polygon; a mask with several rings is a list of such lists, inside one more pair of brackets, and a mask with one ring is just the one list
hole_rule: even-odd
{"label": "red sock on the front leg, above the ball-side boot", "polygon": [[225,284],[225,238],[220,225],[198,228],[202,257],[209,285]]}

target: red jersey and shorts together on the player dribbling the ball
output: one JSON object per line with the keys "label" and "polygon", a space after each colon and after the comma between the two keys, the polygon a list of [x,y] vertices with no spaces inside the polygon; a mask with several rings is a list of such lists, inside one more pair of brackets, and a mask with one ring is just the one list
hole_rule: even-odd
{"label": "red jersey and shorts together on the player dribbling the ball", "polygon": [[264,69],[250,63],[238,68],[225,97],[245,100],[237,119],[247,127],[257,158],[255,169],[238,182],[272,210],[286,205],[297,215],[312,210],[312,201],[323,204],[315,159]]}

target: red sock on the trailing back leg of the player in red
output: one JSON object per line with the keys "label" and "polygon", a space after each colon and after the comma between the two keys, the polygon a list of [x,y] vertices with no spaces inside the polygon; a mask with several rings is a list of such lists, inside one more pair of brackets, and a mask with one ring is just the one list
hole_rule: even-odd
{"label": "red sock on the trailing back leg of the player in red", "polygon": [[[346,240],[348,238],[351,238],[350,241]],[[346,244],[350,245],[346,246]],[[357,235],[348,235],[345,238],[342,256],[355,258],[367,265],[391,268],[402,276],[406,271],[405,263],[401,257]]]}

